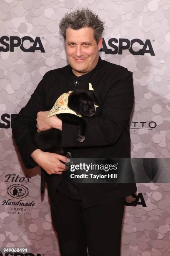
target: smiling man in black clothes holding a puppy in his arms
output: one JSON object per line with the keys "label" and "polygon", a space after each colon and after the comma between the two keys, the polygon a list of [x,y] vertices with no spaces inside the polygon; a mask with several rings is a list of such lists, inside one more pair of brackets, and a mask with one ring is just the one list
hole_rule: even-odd
{"label": "smiling man in black clothes holding a puppy in his arms", "polygon": [[[52,221],[62,256],[120,256],[125,197],[135,184],[70,184],[63,179],[65,156],[43,152],[32,140],[36,131],[62,133],[62,147],[73,158],[130,158],[129,120],[133,108],[132,73],[99,57],[103,22],[89,9],[66,14],[60,22],[70,65],[47,72],[13,125],[13,136],[27,168],[39,164],[46,174]],[[77,127],[57,116],[47,118],[56,99],[89,82],[100,104],[95,117],[85,118],[85,141]],[[63,163],[64,162],[64,163]],[[67,171],[66,171],[67,172]],[[132,200],[131,200],[132,201]],[[128,201],[130,202],[130,201]]]}

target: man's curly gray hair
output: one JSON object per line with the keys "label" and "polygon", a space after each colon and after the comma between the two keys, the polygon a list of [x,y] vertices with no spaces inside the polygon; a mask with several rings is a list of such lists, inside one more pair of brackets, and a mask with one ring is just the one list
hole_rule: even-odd
{"label": "man's curly gray hair", "polygon": [[99,42],[102,37],[102,32],[104,30],[104,22],[100,20],[98,15],[92,12],[88,8],[82,8],[72,11],[71,13],[66,13],[65,16],[61,19],[59,28],[60,33],[66,38],[66,29],[80,29],[84,27],[93,28],[95,41]]}

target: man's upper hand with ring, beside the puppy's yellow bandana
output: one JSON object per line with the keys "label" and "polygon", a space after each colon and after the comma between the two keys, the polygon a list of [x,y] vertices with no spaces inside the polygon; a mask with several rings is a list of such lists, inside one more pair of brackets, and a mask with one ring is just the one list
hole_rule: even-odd
{"label": "man's upper hand with ring, beside the puppy's yellow bandana", "polygon": [[40,111],[37,113],[37,132],[46,131],[51,128],[56,128],[62,131],[62,120],[53,115],[48,118],[49,111]]}

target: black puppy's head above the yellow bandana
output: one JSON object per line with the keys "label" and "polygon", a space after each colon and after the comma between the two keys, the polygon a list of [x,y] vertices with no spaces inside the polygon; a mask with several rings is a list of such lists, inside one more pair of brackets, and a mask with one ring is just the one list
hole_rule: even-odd
{"label": "black puppy's head above the yellow bandana", "polygon": [[99,101],[92,90],[77,88],[68,97],[68,107],[82,116],[95,115],[95,105]]}

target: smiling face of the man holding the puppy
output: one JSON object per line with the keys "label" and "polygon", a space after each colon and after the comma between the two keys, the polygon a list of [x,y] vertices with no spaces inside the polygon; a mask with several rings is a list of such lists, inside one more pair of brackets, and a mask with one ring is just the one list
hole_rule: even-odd
{"label": "smiling face of the man holding the puppy", "polygon": [[102,47],[102,38],[97,44],[92,28],[85,27],[78,30],[67,28],[65,47],[72,72],[76,76],[81,76],[96,66],[98,51]]}

